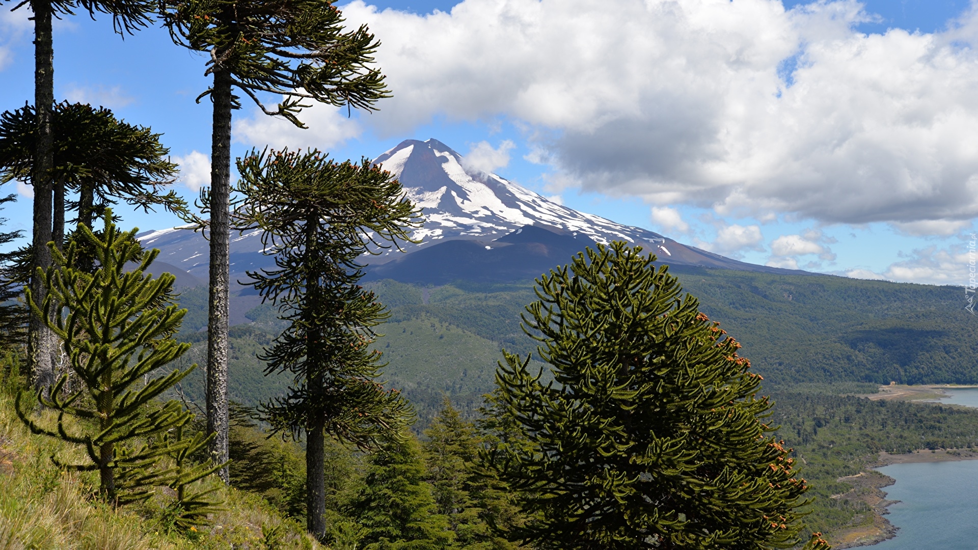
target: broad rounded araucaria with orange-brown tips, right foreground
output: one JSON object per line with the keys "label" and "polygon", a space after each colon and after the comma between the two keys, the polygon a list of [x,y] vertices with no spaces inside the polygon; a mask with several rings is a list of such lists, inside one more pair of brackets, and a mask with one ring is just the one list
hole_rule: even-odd
{"label": "broad rounded araucaria with orange-brown tips, right foreground", "polygon": [[769,436],[761,378],[652,255],[615,242],[537,281],[527,333],[554,380],[507,353],[493,413],[517,437],[486,472],[533,514],[537,548],[788,548],[807,490]]}

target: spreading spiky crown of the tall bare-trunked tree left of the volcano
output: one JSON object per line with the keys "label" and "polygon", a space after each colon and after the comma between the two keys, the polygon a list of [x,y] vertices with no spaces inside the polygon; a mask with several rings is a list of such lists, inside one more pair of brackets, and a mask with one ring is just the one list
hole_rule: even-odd
{"label": "spreading spiky crown of the tall bare-trunked tree left of the volcano", "polygon": [[[387,97],[371,67],[378,41],[366,25],[344,28],[331,0],[161,0],[160,7],[174,42],[210,54],[205,74],[215,83],[201,97],[237,87],[265,114],[299,127],[305,99],[373,110]],[[286,98],[272,111],[259,100],[264,93]]]}

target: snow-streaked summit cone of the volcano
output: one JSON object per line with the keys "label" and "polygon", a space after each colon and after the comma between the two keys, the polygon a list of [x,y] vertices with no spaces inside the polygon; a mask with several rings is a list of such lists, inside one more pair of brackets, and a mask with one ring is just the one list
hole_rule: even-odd
{"label": "snow-streaked summit cone of the volcano", "polygon": [[[599,243],[642,242],[662,236],[557,205],[496,174],[467,168],[466,160],[436,139],[405,140],[374,160],[398,177],[422,207],[424,243],[463,238],[493,240],[524,225],[583,233]],[[422,245],[424,246],[424,245]]]}

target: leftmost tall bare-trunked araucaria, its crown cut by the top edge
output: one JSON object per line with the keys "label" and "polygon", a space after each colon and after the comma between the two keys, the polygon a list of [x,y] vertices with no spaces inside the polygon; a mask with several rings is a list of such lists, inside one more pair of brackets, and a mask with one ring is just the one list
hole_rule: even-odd
{"label": "leftmost tall bare-trunked araucaria, its crown cut by the top edge", "polygon": [[[0,0],[2,3],[4,0]],[[132,33],[138,27],[150,23],[154,3],[149,0],[22,0],[14,6],[30,6],[34,22],[34,105],[38,106],[37,137],[35,140],[36,162],[30,174],[34,187],[34,222],[32,236],[31,273],[38,267],[42,270],[51,265],[51,253],[47,244],[52,240],[52,192],[55,179],[51,173],[54,163],[54,124],[52,108],[55,103],[54,42],[52,19],[74,15],[72,10],[79,6],[88,11],[89,16],[96,12],[110,14],[112,27],[118,33]],[[12,10],[12,11],[13,11]],[[40,282],[33,280],[31,286],[36,298],[43,297],[44,289]],[[28,342],[31,351],[27,354],[31,377],[37,387],[50,387],[54,383],[54,347],[56,342],[47,329],[43,319],[30,317]]]}

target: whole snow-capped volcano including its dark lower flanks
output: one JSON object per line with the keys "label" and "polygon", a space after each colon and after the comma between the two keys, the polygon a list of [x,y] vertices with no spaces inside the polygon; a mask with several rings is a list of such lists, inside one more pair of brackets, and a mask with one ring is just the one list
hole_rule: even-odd
{"label": "whole snow-capped volcano including its dark lower flanks", "polygon": [[[642,245],[664,263],[806,273],[737,261],[640,227],[557,205],[496,174],[467,167],[465,158],[436,139],[405,140],[374,161],[401,181],[407,197],[422,208],[424,222],[413,234],[421,243],[408,244],[405,250],[409,253],[388,250],[364,258],[371,264],[370,270],[375,271],[373,277],[403,279],[411,273],[411,281],[423,282],[465,278],[473,273],[487,279],[502,280],[515,275],[532,278],[541,269],[566,263],[574,251],[593,242],[615,240]],[[530,232],[536,241],[526,242],[526,235],[517,239],[522,240],[518,244],[501,239],[519,234],[527,226],[543,230]],[[139,239],[145,246],[160,250],[160,261],[207,279],[208,243],[200,233],[170,228],[143,233]],[[455,241],[467,243],[447,247]],[[247,279],[246,271],[272,267],[272,258],[262,250],[257,231],[233,234],[232,280]],[[503,261],[501,256],[509,254],[515,255]],[[522,265],[523,271],[504,269],[508,261]]]}

